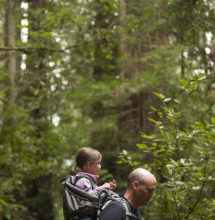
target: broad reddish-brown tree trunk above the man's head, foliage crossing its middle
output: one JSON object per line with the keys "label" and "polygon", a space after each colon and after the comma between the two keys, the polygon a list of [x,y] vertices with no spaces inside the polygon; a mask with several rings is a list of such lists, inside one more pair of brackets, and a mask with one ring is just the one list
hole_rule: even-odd
{"label": "broad reddish-brown tree trunk above the man's head, foliage crossing its middle", "polygon": [[[157,45],[163,45],[167,40],[165,35],[156,30],[147,33],[141,30],[141,27],[139,27],[140,30],[135,28],[133,30],[128,29],[127,17],[129,15],[140,17],[143,13],[138,8],[136,8],[138,11],[131,9],[135,7],[135,4],[138,6],[139,1],[119,1],[119,75],[122,83],[132,81],[136,77],[144,78],[144,72],[148,70],[148,64],[141,61],[140,58],[152,49],[146,45],[143,39],[151,38],[150,40]],[[141,4],[141,7],[143,7],[143,4]],[[135,44],[129,42],[130,33],[136,39]],[[155,39],[155,33],[156,36],[159,35],[158,40]],[[131,60],[133,61],[131,62]],[[143,85],[136,93],[129,95],[127,91],[124,91],[124,94],[125,96],[127,94],[127,99],[123,100],[118,107],[119,140],[123,148],[126,146],[128,149],[135,150],[136,143],[141,141],[140,132],[144,130],[146,133],[151,133],[153,130],[148,120],[148,113],[151,111],[150,107],[154,105],[153,92]],[[150,115],[150,117],[154,116]]]}

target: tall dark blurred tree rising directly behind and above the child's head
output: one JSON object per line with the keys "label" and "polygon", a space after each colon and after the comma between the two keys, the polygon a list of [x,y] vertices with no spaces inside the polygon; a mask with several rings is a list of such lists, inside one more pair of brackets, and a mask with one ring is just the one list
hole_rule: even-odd
{"label": "tall dark blurred tree rising directly behind and above the child's head", "polygon": [[[112,173],[116,173],[114,163],[118,152],[115,136],[116,105],[113,100],[117,76],[118,40],[116,31],[117,3],[115,1],[95,1],[90,4],[94,16],[91,18],[92,76],[89,88],[92,91],[87,114],[93,121],[90,145],[103,154],[103,163]],[[92,25],[93,24],[93,25]],[[111,100],[112,99],[112,100]]]}

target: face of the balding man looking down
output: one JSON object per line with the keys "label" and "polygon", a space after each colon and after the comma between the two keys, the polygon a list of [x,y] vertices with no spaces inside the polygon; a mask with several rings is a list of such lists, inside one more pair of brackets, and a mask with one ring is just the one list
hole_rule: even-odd
{"label": "face of the balding man looking down", "polygon": [[146,205],[149,199],[153,197],[155,185],[156,180],[154,178],[150,178],[146,183],[138,183],[136,195],[139,206]]}

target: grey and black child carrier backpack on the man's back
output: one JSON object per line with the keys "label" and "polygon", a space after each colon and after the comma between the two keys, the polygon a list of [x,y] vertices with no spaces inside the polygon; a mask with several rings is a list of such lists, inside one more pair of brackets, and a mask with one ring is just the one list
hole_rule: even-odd
{"label": "grey and black child carrier backpack on the man's back", "polygon": [[[92,186],[93,182],[88,176],[81,176],[80,178],[87,178]],[[78,181],[78,180],[77,180]],[[75,181],[75,183],[77,182]],[[118,201],[126,211],[126,220],[141,220],[140,214],[138,216],[131,213],[131,207],[128,202],[120,197],[118,194],[110,190],[102,190],[98,197],[86,193],[75,186],[71,178],[64,178],[61,184],[64,186],[63,190],[63,213],[64,219],[79,219],[80,217],[89,216],[92,220],[99,220],[99,215],[102,210],[111,202]]]}

